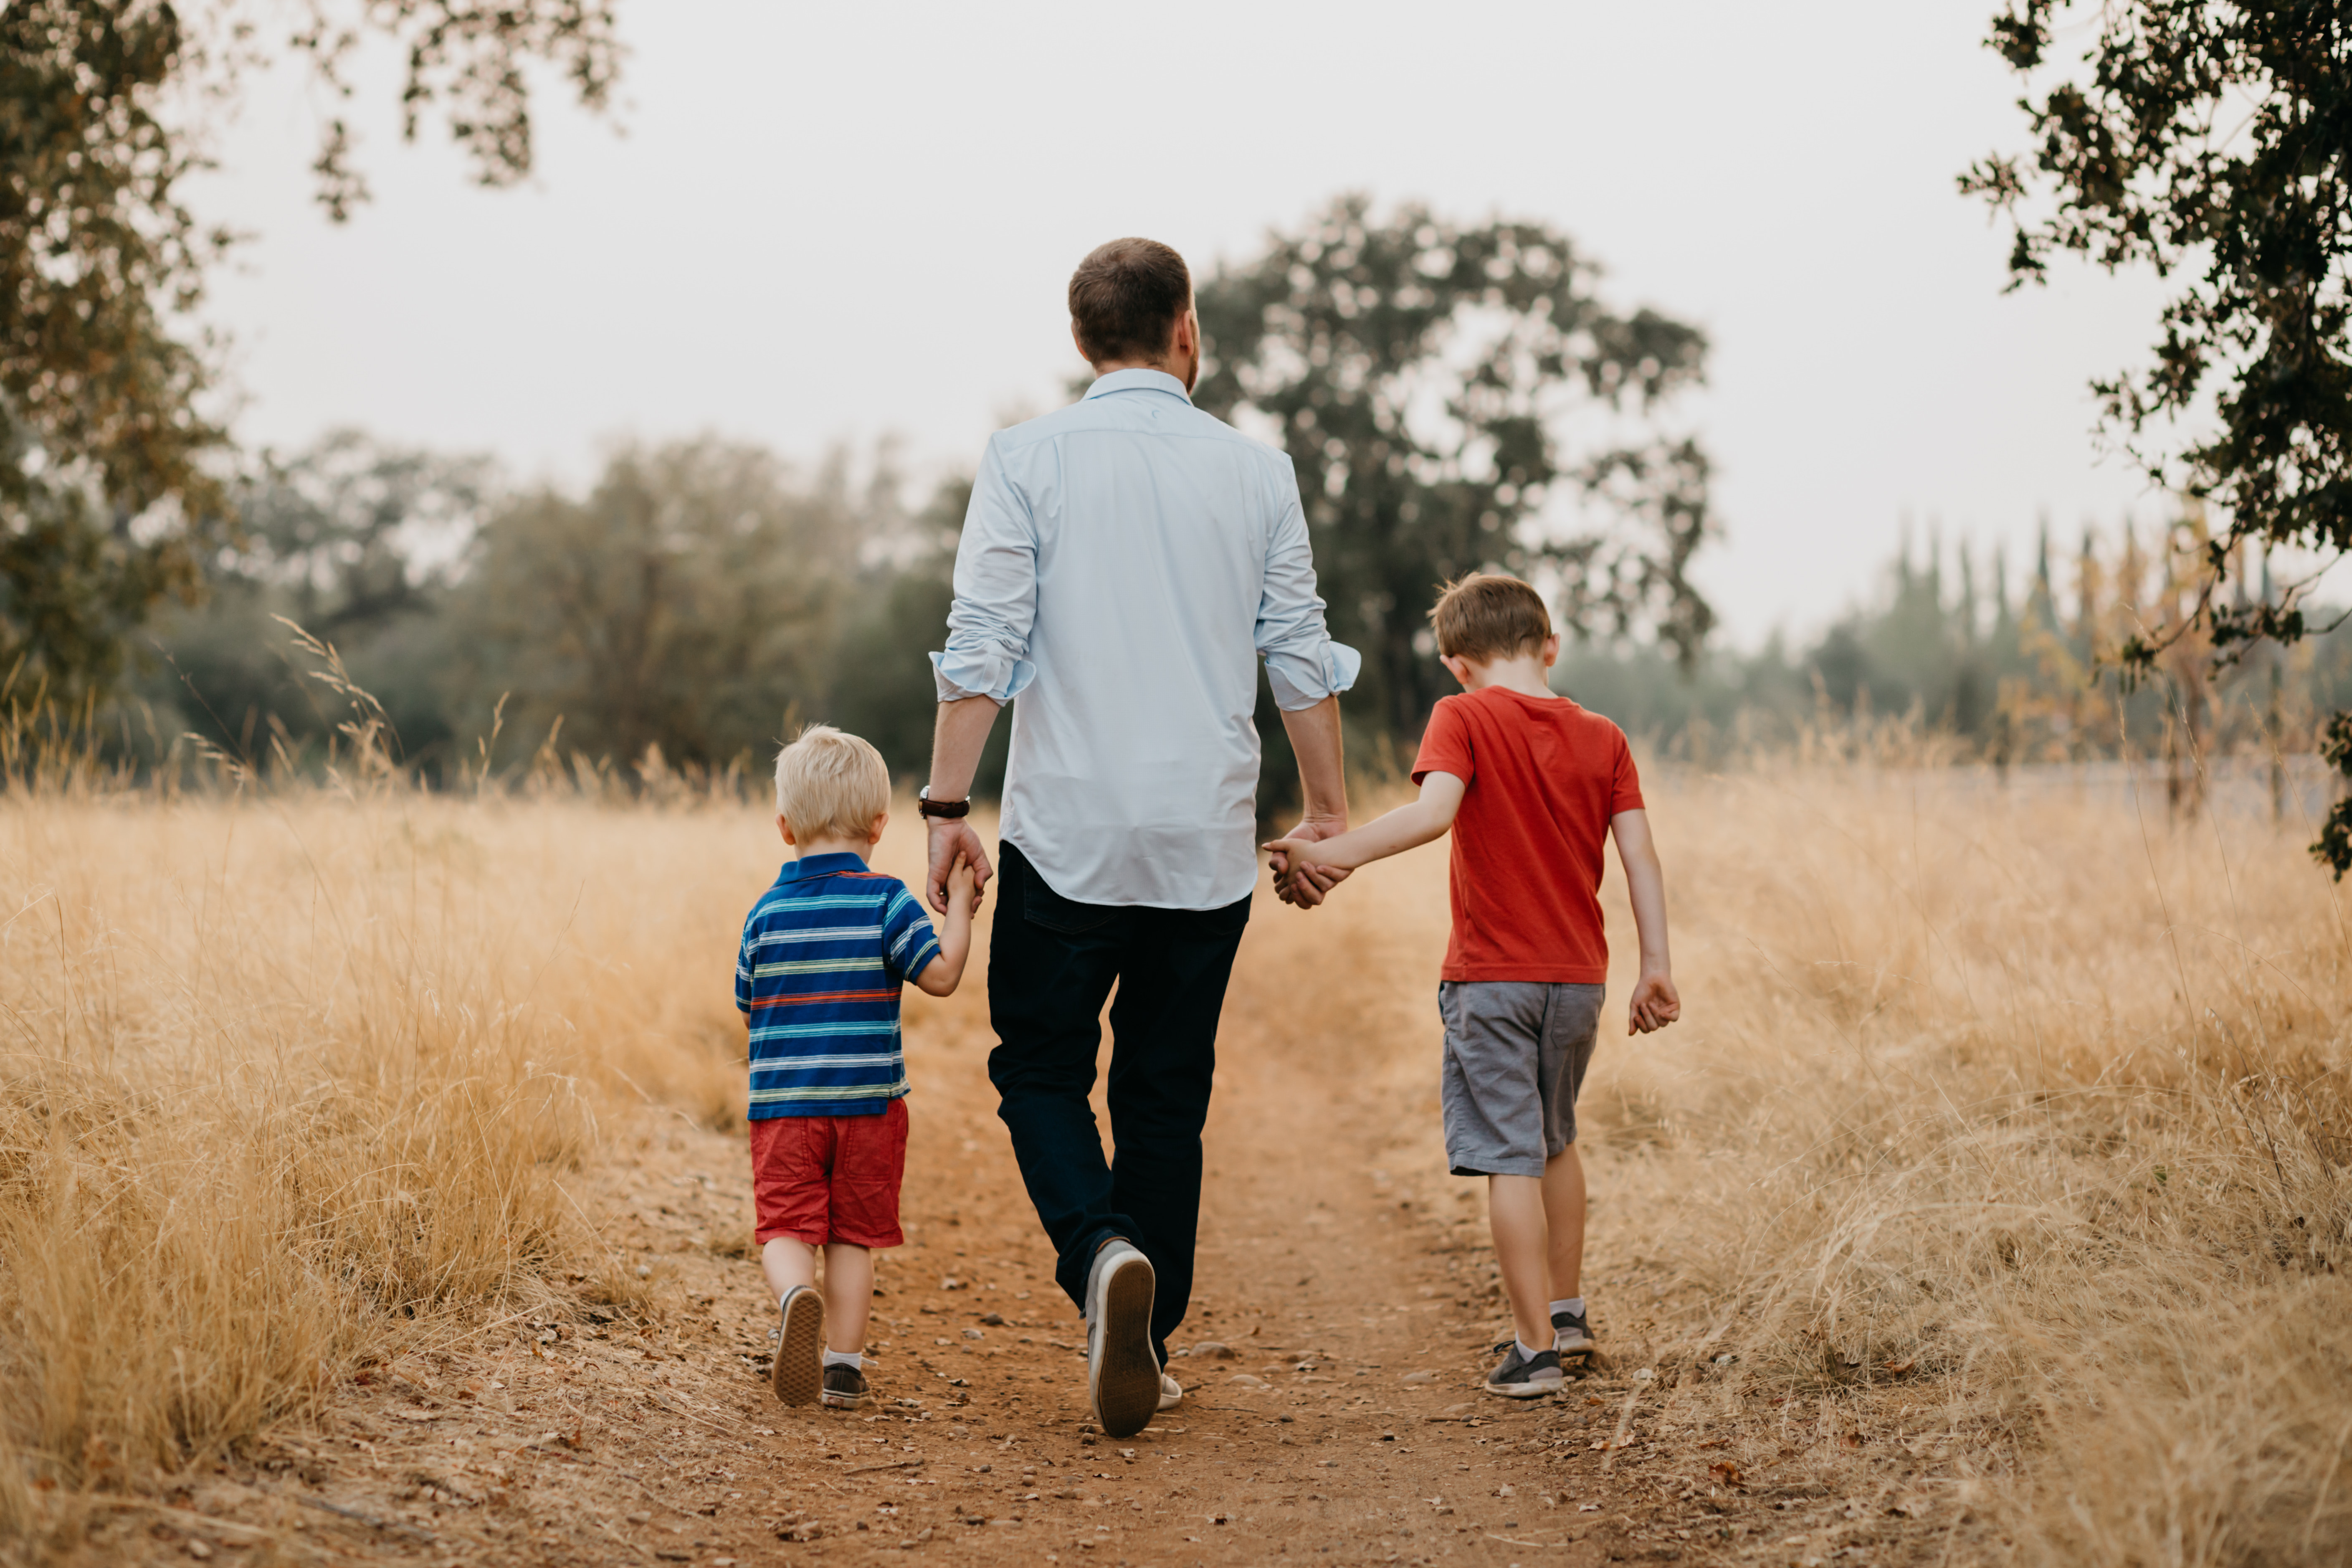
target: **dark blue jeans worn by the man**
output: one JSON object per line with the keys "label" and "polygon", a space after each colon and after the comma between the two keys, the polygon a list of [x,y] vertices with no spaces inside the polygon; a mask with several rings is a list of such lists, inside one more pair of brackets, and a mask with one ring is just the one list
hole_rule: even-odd
{"label": "dark blue jeans worn by the man", "polygon": [[[997,853],[988,943],[988,1081],[1014,1135],[1030,1204],[1054,1241],[1054,1281],[1084,1309],[1087,1269],[1110,1237],[1152,1260],[1152,1349],[1192,1300],[1200,1229],[1200,1128],[1216,1077],[1216,1016],[1249,924],[1249,898],[1221,910],[1073,903],[1014,846]],[[1087,1095],[1110,1006],[1110,1138]]]}

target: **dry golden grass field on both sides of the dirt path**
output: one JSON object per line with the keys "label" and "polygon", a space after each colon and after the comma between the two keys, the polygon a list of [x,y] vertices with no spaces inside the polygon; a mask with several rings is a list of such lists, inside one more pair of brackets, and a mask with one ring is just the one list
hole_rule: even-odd
{"label": "dry golden grass field on both sides of the dirt path", "polygon": [[[2307,832],[1860,764],[1651,809],[1686,1023],[1588,1084],[1588,1295],[1682,1422],[1882,1465],[1924,1561],[2352,1556],[2352,985]],[[663,1309],[567,1175],[644,1105],[736,1117],[774,858],[731,804],[0,797],[0,1549],[550,1295]],[[1265,1006],[1395,1044],[1442,1190],[1442,851],[1258,919],[1315,922],[1254,926],[1301,976]]]}

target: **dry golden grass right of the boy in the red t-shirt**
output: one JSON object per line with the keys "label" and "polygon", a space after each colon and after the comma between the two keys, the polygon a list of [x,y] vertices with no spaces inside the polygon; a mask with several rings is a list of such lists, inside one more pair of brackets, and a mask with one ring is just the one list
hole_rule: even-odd
{"label": "dry golden grass right of the boy in the red t-shirt", "polygon": [[2340,1563],[2345,922],[2307,825],[2157,802],[1844,769],[1665,790],[1691,1025],[1588,1091],[1653,1150],[1613,1161],[1604,1229],[1743,1356],[1724,1406],[1839,1394],[1940,1448],[1980,1476],[1983,1547]]}

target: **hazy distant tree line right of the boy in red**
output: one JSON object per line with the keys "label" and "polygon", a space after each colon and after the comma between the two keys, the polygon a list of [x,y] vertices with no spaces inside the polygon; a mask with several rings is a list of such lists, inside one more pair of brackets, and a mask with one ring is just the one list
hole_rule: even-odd
{"label": "hazy distant tree line right of the boy in red", "polygon": [[2194,503],[2161,529],[2084,527],[2072,550],[2044,527],[2023,574],[2002,550],[1905,534],[1870,599],[1802,646],[1710,649],[1684,675],[1656,649],[1585,644],[1555,686],[1700,762],[1889,719],[1997,766],[2157,757],[2192,773],[2218,755],[2310,755],[2352,703],[2352,630],[2230,663],[2197,639],[2152,665],[2124,656],[2185,614],[2206,545]]}

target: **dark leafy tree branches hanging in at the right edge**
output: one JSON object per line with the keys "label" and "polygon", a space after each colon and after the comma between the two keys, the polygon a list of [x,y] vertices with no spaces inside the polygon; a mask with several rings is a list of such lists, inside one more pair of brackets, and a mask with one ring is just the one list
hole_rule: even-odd
{"label": "dark leafy tree branches hanging in at the right edge", "polygon": [[[2074,14],[2096,33],[2063,59]],[[2194,637],[2220,661],[2300,639],[2317,571],[2279,592],[2246,574],[2270,548],[2333,562],[2352,545],[2352,2],[2013,0],[1990,45],[2037,82],[2032,160],[1959,179],[2013,223],[2009,287],[2060,252],[2176,284],[2150,360],[2093,390],[2147,477],[2225,527],[2199,541],[2187,611],[2129,639],[2124,665],[2154,670]],[[2324,750],[2352,776],[2352,715]],[[2352,870],[2352,797],[2312,853]]]}

